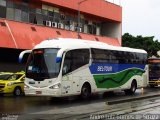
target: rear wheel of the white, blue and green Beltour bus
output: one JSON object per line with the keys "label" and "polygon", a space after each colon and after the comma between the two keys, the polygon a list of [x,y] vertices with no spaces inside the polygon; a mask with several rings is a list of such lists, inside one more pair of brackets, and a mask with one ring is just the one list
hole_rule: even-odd
{"label": "rear wheel of the white, blue and green Beltour bus", "polygon": [[124,90],[124,92],[127,95],[133,95],[135,93],[136,89],[137,89],[137,82],[136,82],[136,80],[133,80],[131,83],[131,88]]}

